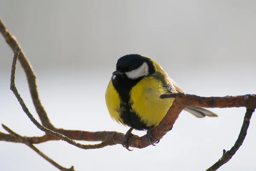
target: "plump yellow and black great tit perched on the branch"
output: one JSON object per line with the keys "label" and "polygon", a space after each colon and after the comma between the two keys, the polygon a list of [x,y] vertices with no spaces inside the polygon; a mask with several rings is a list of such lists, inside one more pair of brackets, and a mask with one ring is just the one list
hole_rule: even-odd
{"label": "plump yellow and black great tit perched on the branch", "polygon": [[[122,139],[122,146],[130,150],[127,142],[133,129],[147,131],[148,140],[154,145],[151,131],[162,121],[175,100],[161,99],[160,95],[165,93],[184,91],[156,61],[140,54],[128,54],[117,60],[105,101],[111,118],[130,127]],[[186,107],[184,110],[198,118],[218,116],[202,107]]]}

